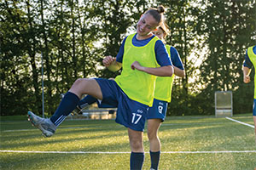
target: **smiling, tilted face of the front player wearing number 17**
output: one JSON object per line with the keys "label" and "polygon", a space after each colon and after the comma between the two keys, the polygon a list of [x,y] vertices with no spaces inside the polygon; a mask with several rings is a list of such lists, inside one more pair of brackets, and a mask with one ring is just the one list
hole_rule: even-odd
{"label": "smiling, tilted face of the front player wearing number 17", "polygon": [[157,26],[158,23],[151,14],[143,14],[141,19],[137,22],[137,35],[147,37]]}

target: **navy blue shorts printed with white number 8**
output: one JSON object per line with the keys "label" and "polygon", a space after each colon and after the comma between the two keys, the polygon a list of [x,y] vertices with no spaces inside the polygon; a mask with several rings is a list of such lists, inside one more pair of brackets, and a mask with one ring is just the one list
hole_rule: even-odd
{"label": "navy blue shorts printed with white number 8", "polygon": [[154,99],[152,107],[148,108],[147,119],[161,119],[162,122],[165,121],[166,111],[168,103],[159,99]]}

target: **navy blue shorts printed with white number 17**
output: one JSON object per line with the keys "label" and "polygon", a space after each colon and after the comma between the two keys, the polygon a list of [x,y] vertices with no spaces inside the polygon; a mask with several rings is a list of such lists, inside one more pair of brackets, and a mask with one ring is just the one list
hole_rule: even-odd
{"label": "navy blue shorts printed with white number 17", "polygon": [[117,107],[115,122],[132,130],[142,131],[148,115],[148,105],[129,99],[113,80],[95,78],[102,89],[101,105]]}

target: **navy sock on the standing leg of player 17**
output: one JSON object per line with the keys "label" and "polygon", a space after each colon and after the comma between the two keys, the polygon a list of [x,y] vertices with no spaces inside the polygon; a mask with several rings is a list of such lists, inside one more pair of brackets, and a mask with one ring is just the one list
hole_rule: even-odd
{"label": "navy sock on the standing leg of player 17", "polygon": [[130,169],[141,170],[143,169],[144,153],[143,152],[131,152]]}

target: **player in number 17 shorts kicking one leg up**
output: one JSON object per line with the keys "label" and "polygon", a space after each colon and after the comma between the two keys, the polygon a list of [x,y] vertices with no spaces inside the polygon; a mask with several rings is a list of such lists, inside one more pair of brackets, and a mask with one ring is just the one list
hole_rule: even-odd
{"label": "player in number 17 shorts kicking one leg up", "polygon": [[107,56],[103,65],[121,75],[115,80],[79,78],[73,83],[55,114],[49,119],[28,111],[30,121],[49,137],[55,133],[70,112],[79,104],[83,94],[118,107],[116,122],[128,129],[131,145],[131,169],[142,169],[144,160],[143,127],[148,106],[153,105],[155,76],[172,77],[173,67],[165,45],[152,31],[163,22],[165,8],[150,8],[137,22],[137,33],[125,37],[116,58]]}

